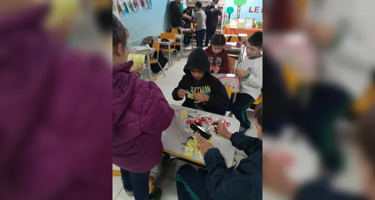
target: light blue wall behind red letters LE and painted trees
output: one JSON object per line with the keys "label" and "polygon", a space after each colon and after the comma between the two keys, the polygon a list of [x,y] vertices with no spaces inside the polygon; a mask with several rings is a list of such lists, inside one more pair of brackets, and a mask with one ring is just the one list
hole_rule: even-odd
{"label": "light blue wall behind red letters LE and painted trees", "polygon": [[[234,12],[230,14],[230,18],[236,18],[237,14],[237,5],[234,5],[234,0],[225,0],[225,7],[233,7]],[[249,8],[251,6],[251,11],[254,11],[255,7],[259,7],[259,13],[251,13],[249,12]],[[263,7],[263,0],[247,0],[246,4],[241,6],[241,10],[239,12],[239,18],[255,18],[256,21],[263,20],[263,13],[261,13],[261,9]]]}

